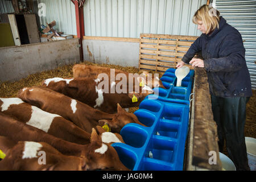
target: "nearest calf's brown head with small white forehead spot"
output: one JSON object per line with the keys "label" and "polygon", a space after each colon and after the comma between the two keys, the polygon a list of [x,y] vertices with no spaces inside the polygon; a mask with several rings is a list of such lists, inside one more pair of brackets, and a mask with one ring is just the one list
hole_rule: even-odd
{"label": "nearest calf's brown head with small white forehead spot", "polygon": [[110,144],[102,143],[101,137],[92,129],[91,142],[85,151],[86,170],[129,170],[126,168],[117,151]]}

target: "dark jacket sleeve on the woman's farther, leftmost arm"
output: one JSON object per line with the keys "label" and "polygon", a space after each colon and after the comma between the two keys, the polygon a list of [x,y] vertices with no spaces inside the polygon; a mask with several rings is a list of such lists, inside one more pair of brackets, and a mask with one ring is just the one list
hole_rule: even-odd
{"label": "dark jacket sleeve on the woman's farther, leftmost arm", "polygon": [[196,55],[197,52],[201,51],[201,36],[195,40],[193,44],[189,47],[187,53],[182,57],[184,63],[189,64],[189,61]]}

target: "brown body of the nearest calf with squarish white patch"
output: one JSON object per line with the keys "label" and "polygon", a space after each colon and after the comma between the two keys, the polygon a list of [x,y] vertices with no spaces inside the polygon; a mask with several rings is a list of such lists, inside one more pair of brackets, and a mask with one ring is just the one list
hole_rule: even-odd
{"label": "brown body of the nearest calf with squarish white patch", "polygon": [[86,166],[84,158],[63,155],[45,142],[14,142],[0,137],[0,148],[6,154],[0,171],[82,171]]}

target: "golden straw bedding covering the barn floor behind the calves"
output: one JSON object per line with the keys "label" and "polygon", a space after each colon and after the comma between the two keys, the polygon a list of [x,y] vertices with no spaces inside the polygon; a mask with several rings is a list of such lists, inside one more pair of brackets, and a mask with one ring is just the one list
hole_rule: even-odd
{"label": "golden straw bedding covering the barn floor behind the calves", "polygon": [[[109,67],[115,69],[121,69],[123,71],[129,73],[139,73],[141,74],[142,71],[138,68],[134,67],[121,67],[119,65],[113,64],[94,64],[89,61],[84,61],[80,64],[87,64],[87,65],[98,65],[101,67]],[[26,78],[23,78],[16,82],[1,82],[0,81],[0,97],[2,98],[9,98],[9,97],[17,97],[19,89],[22,89],[26,86],[39,86],[41,85],[42,81],[47,78],[52,77],[73,77],[73,68],[74,64],[65,65],[63,67],[58,67],[51,71],[45,71],[41,73],[36,73],[29,75]],[[150,71],[150,73],[159,73],[155,71]],[[163,73],[159,73],[159,77],[161,77]],[[134,113],[139,109],[139,107],[130,107],[129,112]],[[246,123],[245,123],[245,137],[253,137],[256,138],[256,90],[253,90],[253,97],[250,98],[250,101],[246,105]]]}

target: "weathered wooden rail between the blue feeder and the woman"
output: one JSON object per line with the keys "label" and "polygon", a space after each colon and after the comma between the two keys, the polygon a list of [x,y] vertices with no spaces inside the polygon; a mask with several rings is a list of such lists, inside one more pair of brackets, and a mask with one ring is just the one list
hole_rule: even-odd
{"label": "weathered wooden rail between the blue feeder and the woman", "polygon": [[[195,68],[195,117],[192,164],[197,167],[221,170],[218,154],[217,125],[213,120],[209,84],[204,68]],[[216,152],[216,164],[209,164],[209,152]]]}

